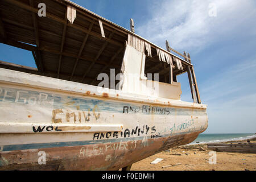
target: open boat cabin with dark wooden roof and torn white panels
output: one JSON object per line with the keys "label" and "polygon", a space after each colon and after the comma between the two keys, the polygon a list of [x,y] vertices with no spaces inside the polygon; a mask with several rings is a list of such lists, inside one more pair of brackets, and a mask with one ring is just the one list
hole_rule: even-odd
{"label": "open boat cabin with dark wooden roof and torn white panels", "polygon": [[133,20],[129,31],[71,1],[0,1],[0,43],[31,51],[37,67],[0,57],[0,68],[144,96],[180,100],[177,75],[187,72],[193,101],[201,104],[189,54],[141,38]]}

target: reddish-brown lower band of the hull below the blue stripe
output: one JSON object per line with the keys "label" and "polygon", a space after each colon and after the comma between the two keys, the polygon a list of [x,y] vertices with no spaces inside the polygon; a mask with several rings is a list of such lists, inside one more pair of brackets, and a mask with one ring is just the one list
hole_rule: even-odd
{"label": "reddish-brown lower band of the hull below the blue stripe", "polygon": [[[0,170],[118,170],[168,148],[191,143],[199,133],[0,152]],[[45,165],[38,164],[39,151],[46,152]]]}

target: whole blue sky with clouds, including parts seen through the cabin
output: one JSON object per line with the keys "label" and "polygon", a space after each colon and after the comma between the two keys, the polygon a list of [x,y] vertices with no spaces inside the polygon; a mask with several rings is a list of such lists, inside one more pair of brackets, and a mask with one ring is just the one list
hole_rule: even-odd
{"label": "whole blue sky with clouds, including parts seen through the cabin", "polygon": [[[189,52],[203,104],[205,133],[256,132],[256,2],[254,0],[73,0],[165,48]],[[210,3],[216,16],[209,16]],[[30,52],[0,44],[1,59],[35,67]],[[178,77],[181,100],[192,101],[187,74]]]}

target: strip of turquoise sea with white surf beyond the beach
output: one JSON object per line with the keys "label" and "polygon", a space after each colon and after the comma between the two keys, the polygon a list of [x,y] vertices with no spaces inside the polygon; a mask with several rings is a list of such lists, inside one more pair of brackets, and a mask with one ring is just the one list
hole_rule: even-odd
{"label": "strip of turquoise sea with white surf beyond the beach", "polygon": [[256,138],[255,133],[241,133],[241,134],[199,134],[199,136],[191,144],[204,144],[204,143],[220,143],[229,142],[234,140],[247,140]]}

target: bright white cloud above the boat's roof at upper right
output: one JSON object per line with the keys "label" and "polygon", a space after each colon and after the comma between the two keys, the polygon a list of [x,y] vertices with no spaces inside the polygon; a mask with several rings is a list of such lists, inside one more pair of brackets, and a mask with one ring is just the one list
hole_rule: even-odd
{"label": "bright white cloud above the boat's roof at upper right", "polygon": [[[209,4],[217,7],[217,16],[209,16]],[[168,1],[151,5],[152,18],[137,28],[137,32],[152,43],[165,48],[165,40],[169,40],[174,49],[193,50],[204,48],[236,32],[250,20],[251,34],[255,34],[254,18],[256,18],[255,1]],[[246,32],[247,34],[249,31]]]}

